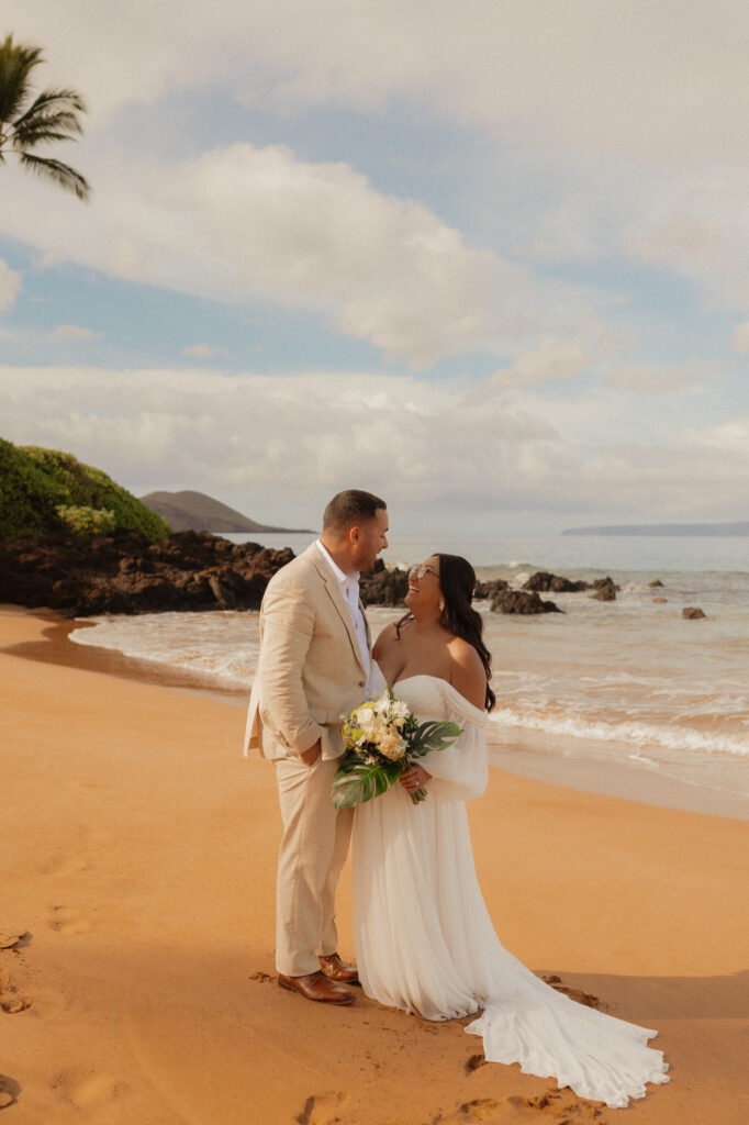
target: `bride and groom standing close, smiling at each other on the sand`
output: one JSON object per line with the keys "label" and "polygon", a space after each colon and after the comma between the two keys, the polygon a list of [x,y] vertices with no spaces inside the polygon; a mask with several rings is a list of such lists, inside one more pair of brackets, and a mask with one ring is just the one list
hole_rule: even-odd
{"label": "bride and groom standing close, smiling at each other on the sand", "polygon": [[[245,753],[272,758],[283,824],[276,963],[279,984],[349,1005],[351,986],[426,1019],[478,1014],[488,1062],[518,1062],[583,1097],[626,1106],[668,1081],[656,1033],[584,1008],[539,980],[499,943],[476,878],[466,802],[487,783],[490,656],[471,606],[466,559],[433,555],[409,573],[408,613],[374,648],[359,575],[387,547],[382,500],[349,489],[325,508],[321,538],[279,570],[261,610],[261,655]],[[336,810],[341,718],[392,685],[419,720],[461,728],[400,784]],[[414,804],[409,791],[426,786]],[[339,955],[335,890],[354,835],[358,965]]]}

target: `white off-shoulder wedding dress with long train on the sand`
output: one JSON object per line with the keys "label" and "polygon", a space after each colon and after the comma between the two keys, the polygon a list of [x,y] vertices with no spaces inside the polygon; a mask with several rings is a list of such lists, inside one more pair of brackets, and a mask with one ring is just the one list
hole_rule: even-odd
{"label": "white off-shoulder wedding dress with long train on the sand", "polygon": [[667,1082],[656,1032],[586,1008],[544,984],[497,938],[476,878],[466,802],[488,776],[485,712],[446,681],[409,676],[395,685],[421,720],[463,732],[419,764],[428,796],[413,804],[401,785],[359,806],[354,817],[354,938],[367,996],[426,1019],[481,1010],[466,1030],[484,1036],[488,1062],[611,1107]]}

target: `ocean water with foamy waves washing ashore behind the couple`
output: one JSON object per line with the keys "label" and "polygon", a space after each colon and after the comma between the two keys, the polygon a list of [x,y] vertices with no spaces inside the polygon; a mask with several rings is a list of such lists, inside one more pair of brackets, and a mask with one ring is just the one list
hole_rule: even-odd
{"label": "ocean water with foamy waves washing ashore behind the couple", "polygon": [[[298,552],[310,537],[259,541]],[[524,772],[534,756],[550,776],[560,760],[625,764],[661,798],[670,777],[705,800],[712,794],[718,804],[705,803],[705,811],[720,807],[721,794],[749,809],[749,539],[443,536],[394,539],[385,560],[407,566],[435,549],[464,555],[479,577],[504,577],[516,587],[540,569],[588,579],[610,574],[621,586],[608,603],[586,592],[542,595],[563,613],[531,618],[476,603],[493,654],[497,760]],[[650,585],[656,579],[662,587]],[[683,619],[688,605],[705,619]],[[401,612],[369,610],[374,636]],[[215,687],[250,691],[256,613],[96,622],[72,639],[187,668]]]}

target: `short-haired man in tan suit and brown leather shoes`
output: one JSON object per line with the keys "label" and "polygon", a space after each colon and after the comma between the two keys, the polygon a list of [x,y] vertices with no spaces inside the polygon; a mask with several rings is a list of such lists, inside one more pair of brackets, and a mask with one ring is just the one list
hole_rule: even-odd
{"label": "short-haired man in tan suit and brown leather shoes", "polygon": [[350,488],[330,502],[323,533],[273,575],[260,611],[260,662],[245,754],[276,764],[283,836],[279,852],[276,968],[308,1000],[351,1004],[357,970],[337,954],[335,889],[353,810],[331,783],[343,754],[341,716],[366,699],[371,640],[359,574],[388,546],[385,501]]}

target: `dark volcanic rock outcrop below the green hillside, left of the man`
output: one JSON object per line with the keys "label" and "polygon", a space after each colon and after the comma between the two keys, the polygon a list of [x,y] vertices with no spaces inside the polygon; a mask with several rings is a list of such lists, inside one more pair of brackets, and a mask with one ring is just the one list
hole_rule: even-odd
{"label": "dark volcanic rock outcrop below the green hillside, left of the man", "polygon": [[69,616],[256,610],[271,576],[292,558],[288,547],[234,544],[197,531],[161,543],[134,531],[43,536],[0,544],[0,602],[46,605]]}

